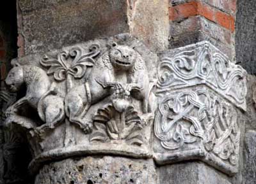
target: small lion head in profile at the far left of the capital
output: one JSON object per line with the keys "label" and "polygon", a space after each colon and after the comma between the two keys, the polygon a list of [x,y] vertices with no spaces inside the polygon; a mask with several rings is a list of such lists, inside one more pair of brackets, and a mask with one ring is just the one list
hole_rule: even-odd
{"label": "small lion head in profile at the far left of the capital", "polygon": [[20,66],[13,67],[11,71],[8,73],[5,83],[12,92],[19,91],[20,87],[24,83],[22,67]]}

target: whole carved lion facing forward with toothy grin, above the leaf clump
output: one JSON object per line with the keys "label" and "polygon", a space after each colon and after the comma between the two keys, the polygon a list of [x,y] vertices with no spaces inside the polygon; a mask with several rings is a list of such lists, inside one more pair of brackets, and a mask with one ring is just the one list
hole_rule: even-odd
{"label": "whole carved lion facing forward with toothy grin, above the leaf clump", "polygon": [[143,113],[148,113],[150,90],[147,67],[140,53],[130,46],[113,43],[97,60],[86,83],[68,92],[65,111],[70,122],[82,125],[81,119],[90,106],[113,94],[140,100]]}

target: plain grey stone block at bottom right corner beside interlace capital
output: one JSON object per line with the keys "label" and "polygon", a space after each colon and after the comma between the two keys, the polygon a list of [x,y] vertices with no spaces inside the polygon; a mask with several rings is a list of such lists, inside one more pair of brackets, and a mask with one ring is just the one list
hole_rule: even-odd
{"label": "plain grey stone block at bottom right corner beside interlace capital", "polygon": [[244,184],[256,183],[256,131],[248,131],[245,134],[244,143]]}

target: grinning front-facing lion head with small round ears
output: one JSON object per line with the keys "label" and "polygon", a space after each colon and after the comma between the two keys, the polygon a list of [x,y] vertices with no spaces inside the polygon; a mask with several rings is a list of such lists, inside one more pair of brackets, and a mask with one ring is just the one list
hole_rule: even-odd
{"label": "grinning front-facing lion head with small round ears", "polygon": [[136,51],[129,46],[113,43],[109,50],[109,59],[115,69],[124,71],[131,69],[137,57]]}

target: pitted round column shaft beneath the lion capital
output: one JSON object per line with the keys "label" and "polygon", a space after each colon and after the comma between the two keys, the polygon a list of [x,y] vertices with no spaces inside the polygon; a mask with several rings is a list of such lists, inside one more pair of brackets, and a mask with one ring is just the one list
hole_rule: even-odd
{"label": "pitted round column shaft beneath the lion capital", "polygon": [[156,177],[152,160],[86,157],[45,165],[35,184],[155,184]]}

